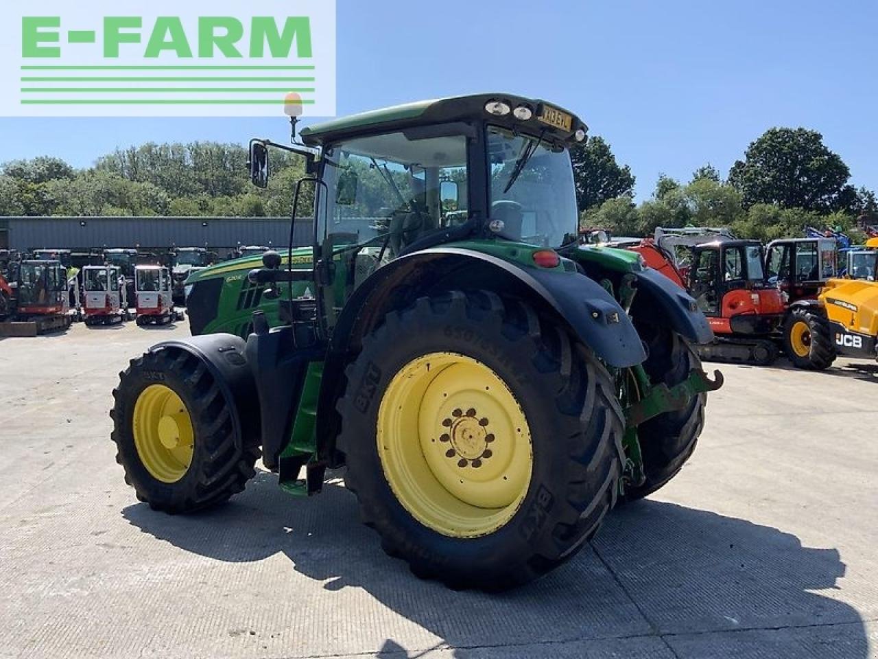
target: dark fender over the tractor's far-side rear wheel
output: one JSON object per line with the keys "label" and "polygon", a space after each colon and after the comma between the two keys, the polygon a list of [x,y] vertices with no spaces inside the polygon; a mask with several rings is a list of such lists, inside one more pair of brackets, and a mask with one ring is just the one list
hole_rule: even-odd
{"label": "dark fender over the tractor's far-side rear wheel", "polygon": [[689,293],[658,270],[644,268],[634,274],[637,277],[635,305],[648,309],[644,317],[663,317],[671,329],[694,344],[713,341],[713,330],[708,319]]}

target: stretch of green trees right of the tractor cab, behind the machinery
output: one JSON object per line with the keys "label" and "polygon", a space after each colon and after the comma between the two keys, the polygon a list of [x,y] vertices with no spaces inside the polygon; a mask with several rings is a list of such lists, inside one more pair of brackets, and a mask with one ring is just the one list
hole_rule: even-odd
{"label": "stretch of green trees right of the tractor cab, behind the machinery", "polygon": [[634,203],[635,177],[606,141],[572,152],[581,228],[651,235],[657,227],[728,227],[762,241],[802,237],[806,227],[838,229],[854,243],[878,225],[874,191],[856,189],[851,172],[823,136],[806,128],[771,128],[745,150],[728,177],[706,164],[690,180],[660,176],[651,198]]}

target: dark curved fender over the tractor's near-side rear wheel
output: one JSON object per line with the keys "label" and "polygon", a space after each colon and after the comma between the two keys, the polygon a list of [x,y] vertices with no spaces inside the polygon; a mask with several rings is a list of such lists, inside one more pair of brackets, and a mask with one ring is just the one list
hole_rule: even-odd
{"label": "dark curved fender over the tractor's near-side rear wheel", "polygon": [[558,317],[609,366],[634,366],[646,358],[637,330],[623,308],[602,286],[579,272],[525,268],[456,247],[414,252],[373,273],[338,317],[318,403],[321,458],[331,460],[340,424],[335,402],[345,387],[344,368],[360,350],[362,338],[389,311],[405,308],[422,295],[473,287],[528,299],[542,313]]}

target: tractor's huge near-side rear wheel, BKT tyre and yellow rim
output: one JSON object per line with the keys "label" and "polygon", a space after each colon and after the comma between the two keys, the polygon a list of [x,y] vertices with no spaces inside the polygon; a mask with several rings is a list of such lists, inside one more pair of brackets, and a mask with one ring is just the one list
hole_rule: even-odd
{"label": "tractor's huge near-side rear wheel, BKT tyre and yellow rim", "polygon": [[385,316],[345,372],[339,448],[387,554],[505,590],[569,559],[615,505],[623,415],[559,322],[486,291]]}

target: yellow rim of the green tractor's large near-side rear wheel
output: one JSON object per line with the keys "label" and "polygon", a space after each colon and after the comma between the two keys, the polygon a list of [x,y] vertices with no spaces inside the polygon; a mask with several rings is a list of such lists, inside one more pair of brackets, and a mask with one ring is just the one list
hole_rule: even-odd
{"label": "yellow rim of the green tractor's large near-side rear wheel", "polygon": [[477,359],[431,352],[409,362],[381,399],[377,435],[393,494],[443,535],[492,533],[528,493],[527,419],[507,384]]}

